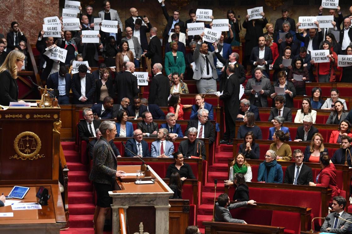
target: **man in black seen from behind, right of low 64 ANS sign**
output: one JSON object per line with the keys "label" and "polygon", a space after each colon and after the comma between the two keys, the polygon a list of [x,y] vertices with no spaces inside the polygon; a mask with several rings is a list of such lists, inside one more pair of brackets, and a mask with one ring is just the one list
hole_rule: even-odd
{"label": "man in black seen from behind, right of low 64 ANS sign", "polygon": [[163,66],[161,64],[153,65],[152,72],[155,76],[152,78],[150,85],[148,101],[150,104],[156,104],[159,107],[167,107],[170,95],[170,80],[163,75],[162,71]]}

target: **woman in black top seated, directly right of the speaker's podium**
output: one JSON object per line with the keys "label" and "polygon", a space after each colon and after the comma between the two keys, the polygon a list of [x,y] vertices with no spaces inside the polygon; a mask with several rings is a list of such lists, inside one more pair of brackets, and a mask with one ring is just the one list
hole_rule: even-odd
{"label": "woman in black top seated, directly right of the speaker's podium", "polygon": [[175,152],[172,154],[175,159],[175,163],[169,165],[168,170],[166,170],[165,178],[170,178],[173,172],[178,172],[180,174],[181,180],[186,179],[196,179],[192,172],[192,168],[187,163],[183,163],[183,155],[181,152]]}

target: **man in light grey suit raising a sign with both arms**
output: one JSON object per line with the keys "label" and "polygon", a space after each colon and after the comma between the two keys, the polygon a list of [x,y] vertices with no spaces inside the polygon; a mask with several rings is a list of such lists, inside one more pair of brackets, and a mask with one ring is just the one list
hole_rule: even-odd
{"label": "man in light grey suit raising a sign with both arms", "polygon": [[208,43],[202,42],[204,32],[200,35],[201,40],[197,43],[197,47],[193,53],[193,59],[196,64],[193,79],[197,80],[197,89],[199,94],[205,94],[209,89],[216,91],[216,79],[218,74],[214,66],[215,53],[222,48],[222,43],[218,49],[208,52]]}

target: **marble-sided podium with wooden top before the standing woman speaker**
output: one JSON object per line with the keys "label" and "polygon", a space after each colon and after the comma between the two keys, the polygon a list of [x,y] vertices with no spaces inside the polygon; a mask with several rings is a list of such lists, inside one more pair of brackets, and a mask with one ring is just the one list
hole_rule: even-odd
{"label": "marble-sided podium with wooden top before the standing woman speaker", "polygon": [[[136,173],[145,170],[144,166],[118,166],[118,170],[126,173]],[[144,232],[165,234],[169,233],[169,196],[174,192],[149,167],[154,184],[135,184],[136,176],[127,176],[122,181],[117,180],[116,191],[110,191],[113,198],[113,234],[120,231],[119,208],[125,211],[125,220],[129,233],[138,233],[138,227],[143,222]],[[145,180],[150,180],[144,178]],[[142,178],[143,180],[143,178]]]}

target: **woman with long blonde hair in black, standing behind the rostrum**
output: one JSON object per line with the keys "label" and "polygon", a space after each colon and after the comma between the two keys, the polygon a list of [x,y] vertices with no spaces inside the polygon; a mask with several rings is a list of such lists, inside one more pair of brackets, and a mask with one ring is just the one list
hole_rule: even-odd
{"label": "woman with long blonde hair in black, standing behind the rostrum", "polygon": [[[17,72],[22,70],[25,55],[19,50],[12,50],[0,67],[0,104],[8,106],[18,102]],[[23,102],[23,101],[19,101]]]}

